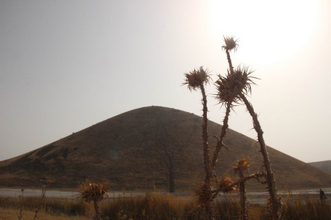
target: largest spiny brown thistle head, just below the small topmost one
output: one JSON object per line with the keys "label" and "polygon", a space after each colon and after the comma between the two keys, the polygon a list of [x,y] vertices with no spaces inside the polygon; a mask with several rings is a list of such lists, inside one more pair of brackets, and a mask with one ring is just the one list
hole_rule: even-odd
{"label": "largest spiny brown thistle head, just below the small topmost one", "polygon": [[251,84],[255,84],[250,76],[253,73],[248,67],[240,66],[231,73],[228,70],[226,76],[218,75],[218,80],[215,82],[217,94],[215,98],[222,105],[225,103],[237,103],[240,101],[240,95],[248,95],[251,90]]}

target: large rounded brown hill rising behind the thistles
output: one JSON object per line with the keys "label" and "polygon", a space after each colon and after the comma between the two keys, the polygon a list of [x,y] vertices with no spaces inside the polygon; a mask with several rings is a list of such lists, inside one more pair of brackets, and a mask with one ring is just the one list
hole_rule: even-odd
{"label": "large rounded brown hill rising behind the thistles", "polygon": [[[204,176],[202,117],[182,110],[144,107],[124,112],[23,155],[0,161],[1,186],[75,187],[85,178],[107,179],[112,189],[188,190]],[[212,135],[221,125],[209,122]],[[240,155],[256,162],[250,173],[261,170],[258,144],[236,131],[227,132],[216,173],[228,172]],[[331,186],[331,175],[268,147],[278,188]],[[233,175],[232,175],[233,176]],[[257,183],[250,183],[258,187]]]}

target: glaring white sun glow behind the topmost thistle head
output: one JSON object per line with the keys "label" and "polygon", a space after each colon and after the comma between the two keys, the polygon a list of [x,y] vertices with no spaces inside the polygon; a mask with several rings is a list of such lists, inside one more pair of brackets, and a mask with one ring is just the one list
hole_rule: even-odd
{"label": "glaring white sun glow behind the topmost thistle head", "polygon": [[212,0],[209,9],[216,41],[223,35],[245,39],[240,46],[249,56],[269,64],[299,52],[312,37],[319,14],[316,0]]}

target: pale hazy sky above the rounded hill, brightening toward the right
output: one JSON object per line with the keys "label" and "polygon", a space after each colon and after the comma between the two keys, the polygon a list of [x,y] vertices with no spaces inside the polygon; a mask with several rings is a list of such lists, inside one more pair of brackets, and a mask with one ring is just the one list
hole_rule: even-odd
{"label": "pale hazy sky above the rounded hill, brightening toward the right", "polygon": [[[225,74],[223,35],[239,38],[267,145],[331,160],[330,0],[0,0],[0,160],[128,110],[201,115],[183,73]],[[210,120],[222,122],[213,84]],[[244,108],[229,125],[255,138]]]}

